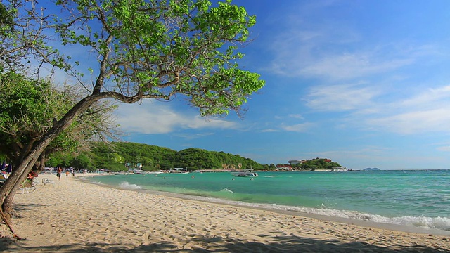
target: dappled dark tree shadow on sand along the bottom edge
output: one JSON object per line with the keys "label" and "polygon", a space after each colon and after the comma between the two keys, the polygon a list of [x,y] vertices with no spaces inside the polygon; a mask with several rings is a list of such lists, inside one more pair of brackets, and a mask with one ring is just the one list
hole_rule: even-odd
{"label": "dappled dark tree shadow on sand along the bottom edge", "polygon": [[[423,245],[405,246],[395,245],[395,249],[371,245],[366,242],[340,242],[339,240],[318,240],[302,238],[294,235],[272,236],[260,235],[271,242],[248,242],[232,238],[204,238],[202,235],[190,235],[192,240],[184,242],[158,242],[149,245],[140,245],[130,249],[125,245],[109,243],[90,243],[74,245],[49,245],[41,247],[27,247],[23,240],[0,238],[0,252],[387,252],[387,253],[413,253],[413,252],[448,252],[439,247],[426,247]],[[200,239],[199,239],[200,238]],[[188,243],[188,248],[183,245]]]}

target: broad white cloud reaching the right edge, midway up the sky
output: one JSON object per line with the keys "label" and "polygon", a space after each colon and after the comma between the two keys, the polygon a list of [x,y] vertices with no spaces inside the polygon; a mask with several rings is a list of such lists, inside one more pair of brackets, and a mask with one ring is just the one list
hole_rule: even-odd
{"label": "broad white cloud reaching the right edge, midway up the sky", "polygon": [[450,85],[394,94],[383,91],[381,85],[315,86],[304,100],[314,110],[347,112],[338,119],[347,126],[397,134],[450,134]]}

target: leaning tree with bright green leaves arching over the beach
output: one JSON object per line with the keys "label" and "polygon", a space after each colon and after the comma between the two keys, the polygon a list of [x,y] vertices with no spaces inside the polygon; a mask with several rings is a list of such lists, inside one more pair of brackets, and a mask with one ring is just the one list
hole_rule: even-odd
{"label": "leaning tree with bright green leaves arching over the beach", "polygon": [[[21,155],[13,174],[0,188],[4,211],[11,207],[5,205],[8,203],[4,198],[15,190],[18,181],[25,179],[46,147],[99,100],[113,98],[136,103],[144,98],[171,100],[178,95],[199,108],[201,115],[224,116],[230,110],[243,110],[248,96],[264,86],[259,74],[238,67],[243,54],[236,50],[248,40],[248,29],[256,19],[231,1],[217,6],[206,0],[60,0],[56,4],[65,16],[53,22],[49,15],[37,15],[32,2],[28,10],[32,14],[28,16],[45,21],[39,23],[44,25],[37,24],[40,30],[34,31],[33,38],[38,39],[26,33],[23,36],[27,38],[16,40],[23,45],[3,41],[1,47],[6,50],[1,52],[1,58],[8,53],[18,56],[14,47],[29,46],[30,41],[42,42],[46,51],[23,51],[22,56],[39,60],[38,73],[47,64],[73,74],[89,94]],[[25,12],[18,11],[18,23],[23,18],[20,13]],[[25,23],[22,25],[26,27]],[[53,34],[42,32],[46,27],[53,27],[63,46],[84,46],[96,60],[91,60],[84,71],[77,60],[82,54],[64,56],[59,52],[71,51],[57,51],[46,44],[45,34]],[[94,79],[92,86],[83,80],[89,73]]]}

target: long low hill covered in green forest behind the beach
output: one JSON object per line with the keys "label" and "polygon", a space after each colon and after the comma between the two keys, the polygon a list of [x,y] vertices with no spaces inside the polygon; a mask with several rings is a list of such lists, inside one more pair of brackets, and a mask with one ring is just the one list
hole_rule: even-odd
{"label": "long low hill covered in green forest behind the beach", "polygon": [[77,167],[87,169],[110,169],[120,171],[135,168],[142,164],[143,170],[186,168],[196,169],[262,169],[264,166],[249,158],[224,152],[208,151],[199,148],[187,148],[176,151],[155,145],[141,143],[113,143],[109,147],[104,143],[95,143],[89,153],[77,157],[53,155],[46,163],[48,167]]}

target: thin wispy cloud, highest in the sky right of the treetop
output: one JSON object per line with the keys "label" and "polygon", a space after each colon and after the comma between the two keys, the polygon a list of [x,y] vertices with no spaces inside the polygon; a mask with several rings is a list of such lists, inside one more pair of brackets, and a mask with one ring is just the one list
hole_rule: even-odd
{"label": "thin wispy cloud, highest in the sky right of the treetop", "polygon": [[[349,49],[346,44],[354,44],[354,41],[334,38],[334,32],[322,29],[314,33],[290,31],[288,35],[279,36],[272,45],[274,60],[269,71],[288,77],[354,79],[392,72],[426,55],[425,52],[415,54],[413,49],[399,52],[392,45]],[[356,39],[357,35],[350,37]]]}

